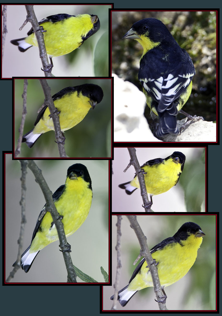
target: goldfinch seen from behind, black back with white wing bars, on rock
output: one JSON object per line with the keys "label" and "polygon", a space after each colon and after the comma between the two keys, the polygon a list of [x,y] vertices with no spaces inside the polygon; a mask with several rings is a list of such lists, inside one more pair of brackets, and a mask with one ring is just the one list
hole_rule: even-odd
{"label": "goldfinch seen from behind, black back with white wing bars, on rock", "polygon": [[195,75],[189,54],[177,44],[168,28],[153,18],[134,23],[123,39],[134,39],[143,46],[138,78],[152,118],[159,118],[155,135],[178,133],[176,114],[191,94]]}

